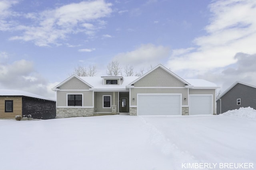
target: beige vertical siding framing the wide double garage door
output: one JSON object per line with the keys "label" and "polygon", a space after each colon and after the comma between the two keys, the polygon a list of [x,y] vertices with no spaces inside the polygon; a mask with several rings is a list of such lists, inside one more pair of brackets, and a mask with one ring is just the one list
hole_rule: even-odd
{"label": "beige vertical siding framing the wide double garage door", "polygon": [[[182,106],[188,106],[187,88],[131,88],[130,106],[137,106],[137,94],[182,94]],[[184,100],[184,98],[186,98],[186,100]]]}

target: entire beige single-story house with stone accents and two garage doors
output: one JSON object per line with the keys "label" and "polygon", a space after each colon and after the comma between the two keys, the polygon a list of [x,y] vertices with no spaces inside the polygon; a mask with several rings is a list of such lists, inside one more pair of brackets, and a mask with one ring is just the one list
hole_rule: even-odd
{"label": "entire beige single-story house with stone accents and two garage doors", "polygon": [[56,91],[56,117],[215,114],[216,85],[182,79],[159,64],[136,76],[72,75]]}

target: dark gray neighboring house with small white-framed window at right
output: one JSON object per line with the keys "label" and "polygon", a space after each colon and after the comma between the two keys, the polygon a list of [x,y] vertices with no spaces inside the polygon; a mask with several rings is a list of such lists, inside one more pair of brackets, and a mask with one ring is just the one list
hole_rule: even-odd
{"label": "dark gray neighboring house with small white-framed window at right", "polygon": [[235,82],[222,93],[216,100],[217,114],[240,107],[252,107],[256,109],[256,86]]}

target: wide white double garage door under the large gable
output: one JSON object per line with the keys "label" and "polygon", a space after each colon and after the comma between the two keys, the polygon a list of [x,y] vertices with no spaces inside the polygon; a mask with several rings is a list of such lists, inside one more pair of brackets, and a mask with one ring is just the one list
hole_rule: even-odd
{"label": "wide white double garage door under the large gable", "polygon": [[181,115],[181,94],[138,94],[138,115]]}

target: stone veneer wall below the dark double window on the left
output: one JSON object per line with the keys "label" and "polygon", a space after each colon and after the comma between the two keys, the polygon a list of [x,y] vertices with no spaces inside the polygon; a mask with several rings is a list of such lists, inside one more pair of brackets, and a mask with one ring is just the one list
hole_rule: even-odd
{"label": "stone veneer wall below the dark double window on the left", "polygon": [[56,118],[93,116],[94,108],[56,108]]}

